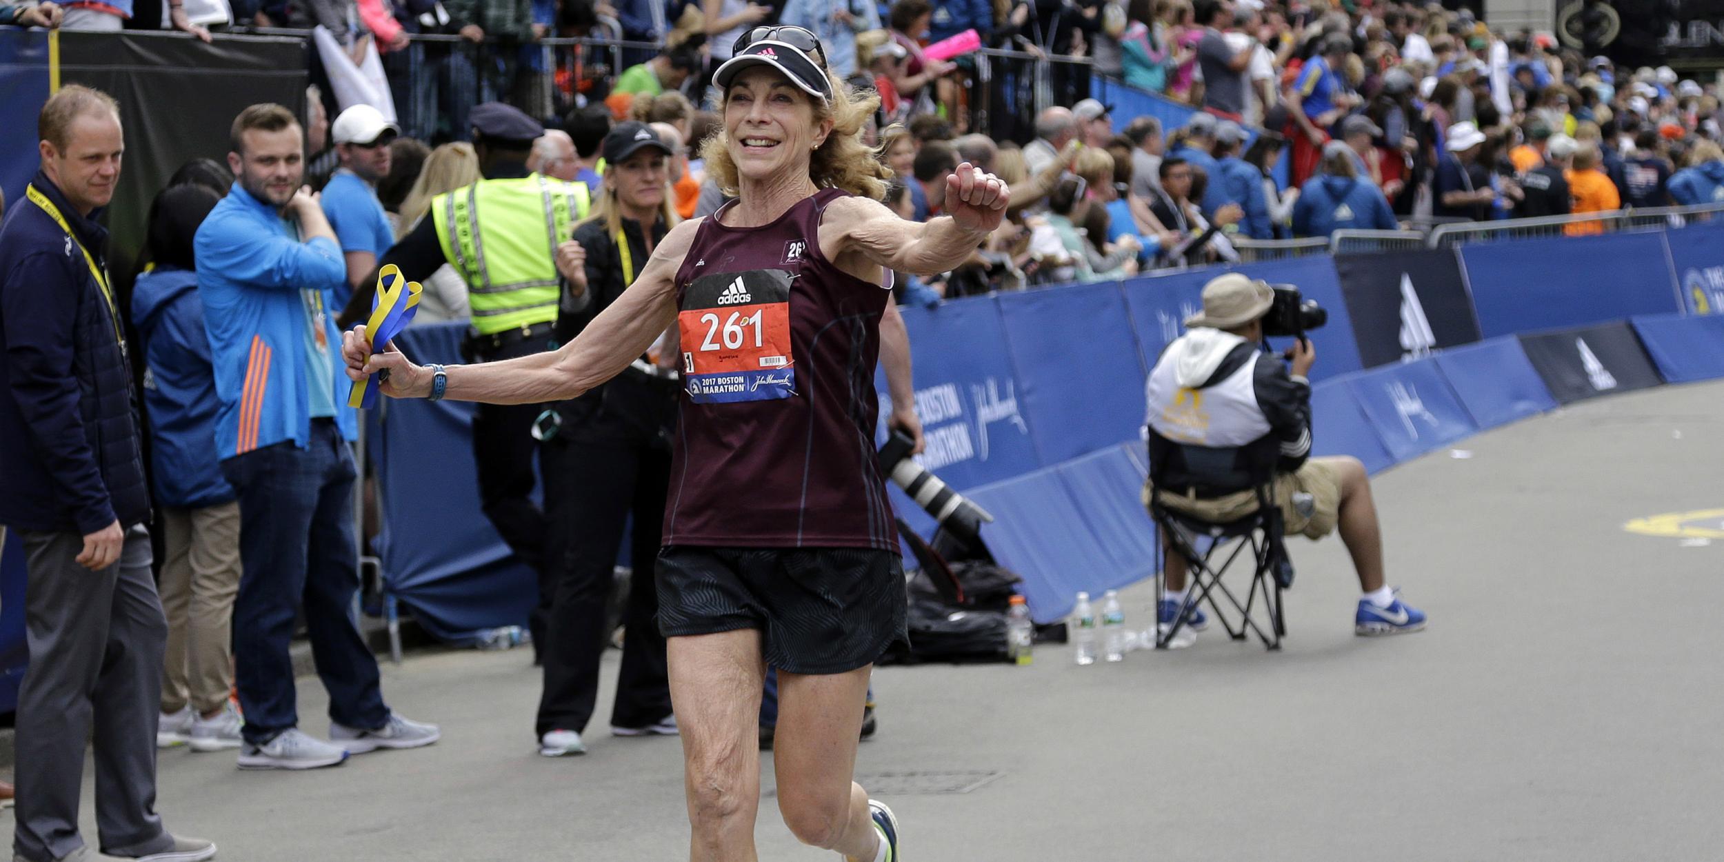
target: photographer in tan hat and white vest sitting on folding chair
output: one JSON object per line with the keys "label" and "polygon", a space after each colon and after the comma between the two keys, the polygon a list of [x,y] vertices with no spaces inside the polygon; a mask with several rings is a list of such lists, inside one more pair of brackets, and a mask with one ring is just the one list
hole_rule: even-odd
{"label": "photographer in tan hat and white vest sitting on folding chair", "polygon": [[[1241,274],[1226,274],[1203,286],[1203,314],[1186,321],[1190,331],[1167,345],[1146,386],[1150,460],[1162,464],[1172,447],[1219,450],[1217,459],[1183,459],[1184,469],[1146,486],[1164,507],[1205,522],[1231,522],[1257,509],[1250,481],[1241,481],[1229,450],[1252,445],[1279,448],[1274,503],[1286,534],[1312,540],[1340,528],[1353,557],[1364,597],[1353,617],[1359,634],[1419,631],[1426,617],[1403,603],[1383,581],[1383,536],[1371,479],[1353,457],[1310,457],[1310,374],[1317,352],[1305,329],[1327,321],[1298,290],[1271,288]],[[1281,357],[1267,352],[1264,336],[1293,336]],[[1283,364],[1291,364],[1291,374]],[[1205,469],[1226,462],[1226,469]],[[1167,540],[1162,540],[1164,547]],[[1186,559],[1167,553],[1167,595],[1159,621],[1172,624],[1186,598]],[[1207,626],[1195,605],[1186,615],[1193,631]]]}

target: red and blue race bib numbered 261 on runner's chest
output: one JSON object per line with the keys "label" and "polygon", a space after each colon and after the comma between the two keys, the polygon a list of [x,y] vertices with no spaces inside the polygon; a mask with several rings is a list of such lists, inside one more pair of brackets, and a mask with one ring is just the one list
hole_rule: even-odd
{"label": "red and blue race bib numbered 261 on runner's chest", "polygon": [[790,272],[755,269],[695,279],[683,293],[683,388],[695,403],[767,402],[796,393]]}

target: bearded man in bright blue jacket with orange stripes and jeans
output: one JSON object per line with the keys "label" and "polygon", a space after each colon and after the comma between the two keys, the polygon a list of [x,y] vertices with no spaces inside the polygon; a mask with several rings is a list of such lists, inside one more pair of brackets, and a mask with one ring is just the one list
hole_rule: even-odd
{"label": "bearded man in bright blue jacket with orange stripes and jeans", "polygon": [[[378,660],[348,617],[359,590],[355,438],[329,297],[347,264],[305,174],[303,133],[281,105],[233,122],[233,190],[198,228],[198,295],[216,369],[216,452],[240,495],[234,681],[241,769],[314,769],[348,753],[438,740],[383,703]],[[295,609],[329,690],[329,736],[298,729]]]}

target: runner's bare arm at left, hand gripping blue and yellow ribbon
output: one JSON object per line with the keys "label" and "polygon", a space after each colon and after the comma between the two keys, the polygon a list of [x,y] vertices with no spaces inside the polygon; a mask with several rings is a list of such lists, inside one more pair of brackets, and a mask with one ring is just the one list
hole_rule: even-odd
{"label": "runner's bare arm at left, hand gripping blue and yellow ribbon", "polygon": [[[683,265],[683,255],[695,241],[698,226],[700,219],[693,219],[671,229],[634,284],[595,317],[579,338],[550,353],[450,365],[443,397],[486,403],[560,402],[621,374],[676,322],[676,271]],[[371,350],[364,326],[355,326],[341,336],[341,357],[347,360],[350,379],[357,381],[369,372],[388,369],[384,395],[422,398],[431,393],[429,369],[414,365],[393,347],[376,355]]]}

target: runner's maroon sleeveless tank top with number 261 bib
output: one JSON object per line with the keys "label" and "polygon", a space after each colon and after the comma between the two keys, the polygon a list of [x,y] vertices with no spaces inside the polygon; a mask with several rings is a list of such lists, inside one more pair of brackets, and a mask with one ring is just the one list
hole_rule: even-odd
{"label": "runner's maroon sleeveless tank top with number 261 bib", "polygon": [[700,224],[676,272],[683,417],[665,545],[895,550],[874,457],[890,290],[821,255],[822,190],[760,228]]}

